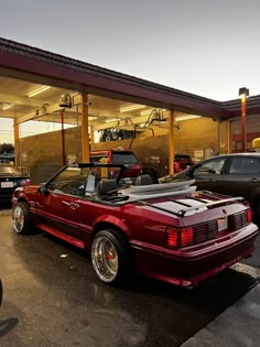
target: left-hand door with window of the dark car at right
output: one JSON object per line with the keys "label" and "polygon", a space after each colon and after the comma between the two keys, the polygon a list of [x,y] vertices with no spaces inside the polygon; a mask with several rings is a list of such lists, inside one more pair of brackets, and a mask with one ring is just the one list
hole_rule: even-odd
{"label": "left-hand door with window of the dark car at right", "polygon": [[225,165],[226,156],[217,156],[189,169],[189,175],[195,178],[197,189],[224,193],[226,185]]}

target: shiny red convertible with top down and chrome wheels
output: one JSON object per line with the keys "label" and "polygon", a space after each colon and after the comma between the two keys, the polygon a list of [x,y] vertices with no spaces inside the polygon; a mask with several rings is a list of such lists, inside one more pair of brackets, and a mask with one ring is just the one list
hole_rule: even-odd
{"label": "shiny red convertible with top down and chrome wheels", "polygon": [[193,181],[126,185],[123,165],[65,166],[41,186],[14,191],[13,228],[40,228],[91,254],[98,278],[134,272],[188,286],[250,256],[258,235],[242,197],[197,192]]}

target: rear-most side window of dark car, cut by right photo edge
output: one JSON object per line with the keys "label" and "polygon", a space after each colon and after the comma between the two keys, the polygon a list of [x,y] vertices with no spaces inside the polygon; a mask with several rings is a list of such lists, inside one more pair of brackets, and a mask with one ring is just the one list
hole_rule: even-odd
{"label": "rear-most side window of dark car, cut by right photo edge", "polygon": [[230,164],[230,174],[260,174],[260,162],[257,158],[234,158]]}

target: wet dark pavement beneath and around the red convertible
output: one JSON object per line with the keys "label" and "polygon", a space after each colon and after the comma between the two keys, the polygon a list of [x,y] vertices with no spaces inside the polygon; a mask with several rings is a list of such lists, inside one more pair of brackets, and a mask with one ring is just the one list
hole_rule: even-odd
{"label": "wet dark pavement beneath and around the red convertible", "polygon": [[17,235],[11,209],[0,210],[0,224],[1,346],[180,346],[259,274],[257,251],[194,290],[145,278],[122,290],[101,283],[78,249],[43,232]]}

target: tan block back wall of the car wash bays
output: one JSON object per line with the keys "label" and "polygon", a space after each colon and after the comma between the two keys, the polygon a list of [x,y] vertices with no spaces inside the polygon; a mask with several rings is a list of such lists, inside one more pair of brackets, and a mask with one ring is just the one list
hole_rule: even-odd
{"label": "tan block back wall of the car wash bays", "polygon": [[[161,124],[163,126],[163,124]],[[169,137],[167,129],[153,127],[152,130],[138,134],[137,139],[99,142],[91,144],[93,150],[115,149],[122,147],[138,154],[142,164],[148,166],[156,158],[160,161],[162,174],[167,173]],[[213,121],[210,118],[199,118],[177,122],[174,130],[174,152],[186,153],[195,161],[213,154],[227,152],[227,122]],[[218,149],[219,148],[219,149]],[[68,162],[82,161],[80,127],[65,130],[65,154]],[[62,166],[62,131],[22,138],[15,149],[17,164],[26,166],[30,174],[39,172],[39,167],[52,164],[55,169]],[[153,163],[154,164],[154,163]],[[158,164],[156,164],[158,165]]]}

